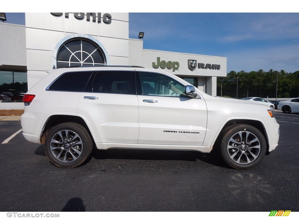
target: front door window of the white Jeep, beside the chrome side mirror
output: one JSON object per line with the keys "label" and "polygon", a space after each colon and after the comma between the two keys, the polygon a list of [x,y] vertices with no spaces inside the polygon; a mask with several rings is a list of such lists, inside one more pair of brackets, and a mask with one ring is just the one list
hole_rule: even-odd
{"label": "front door window of the white Jeep, beside the chrome side mirror", "polygon": [[183,84],[159,73],[140,72],[140,81],[143,95],[186,96]]}

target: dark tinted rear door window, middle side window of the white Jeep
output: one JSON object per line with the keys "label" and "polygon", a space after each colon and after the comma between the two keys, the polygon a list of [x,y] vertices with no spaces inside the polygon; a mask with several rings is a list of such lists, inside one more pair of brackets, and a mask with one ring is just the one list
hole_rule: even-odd
{"label": "dark tinted rear door window, middle side window of the white Jeep", "polygon": [[99,71],[93,79],[92,92],[134,94],[134,84],[131,71]]}

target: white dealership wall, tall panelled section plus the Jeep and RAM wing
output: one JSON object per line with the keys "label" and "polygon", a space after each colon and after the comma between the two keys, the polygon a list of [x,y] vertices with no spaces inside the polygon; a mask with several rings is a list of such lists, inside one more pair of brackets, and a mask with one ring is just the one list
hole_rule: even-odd
{"label": "white dealership wall, tall panelled section plus the Jeep and RAM wing", "polygon": [[[101,13],[101,16],[103,14]],[[159,57],[160,62],[172,62],[177,67],[173,69],[159,66],[155,69],[176,76],[197,77],[197,87],[216,96],[216,77],[225,77],[227,74],[226,57],[144,50],[142,39],[129,39],[129,13],[109,14],[112,21],[107,24],[102,18],[100,23],[97,22],[98,18],[96,22],[87,21],[86,13],[80,20],[74,17],[74,13],[69,13],[68,17],[65,17],[65,13],[61,16],[53,16],[51,13],[25,13],[28,89],[47,74],[45,70],[55,68],[57,52],[54,49],[57,50],[57,46],[62,44],[62,39],[82,34],[96,39],[103,45],[106,56],[109,57],[108,65],[139,65],[153,68],[153,63],[157,64]],[[188,59],[197,60],[197,63],[205,65],[220,65],[220,69],[196,67],[190,70]]]}

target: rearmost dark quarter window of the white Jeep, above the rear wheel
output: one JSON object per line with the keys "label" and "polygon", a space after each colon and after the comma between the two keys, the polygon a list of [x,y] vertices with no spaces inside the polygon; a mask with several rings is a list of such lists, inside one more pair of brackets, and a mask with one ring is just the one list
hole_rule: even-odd
{"label": "rearmost dark quarter window of the white Jeep, above the rear wheel", "polygon": [[62,74],[48,88],[49,90],[83,92],[92,71],[68,72]]}

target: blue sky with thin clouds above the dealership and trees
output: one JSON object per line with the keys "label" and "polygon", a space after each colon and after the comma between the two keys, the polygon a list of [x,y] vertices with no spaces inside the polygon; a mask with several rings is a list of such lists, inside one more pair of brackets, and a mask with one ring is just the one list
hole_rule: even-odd
{"label": "blue sky with thin clouds above the dealership and trees", "polygon": [[227,72],[299,70],[299,13],[129,13],[129,38],[140,31],[144,49],[227,57]]}

